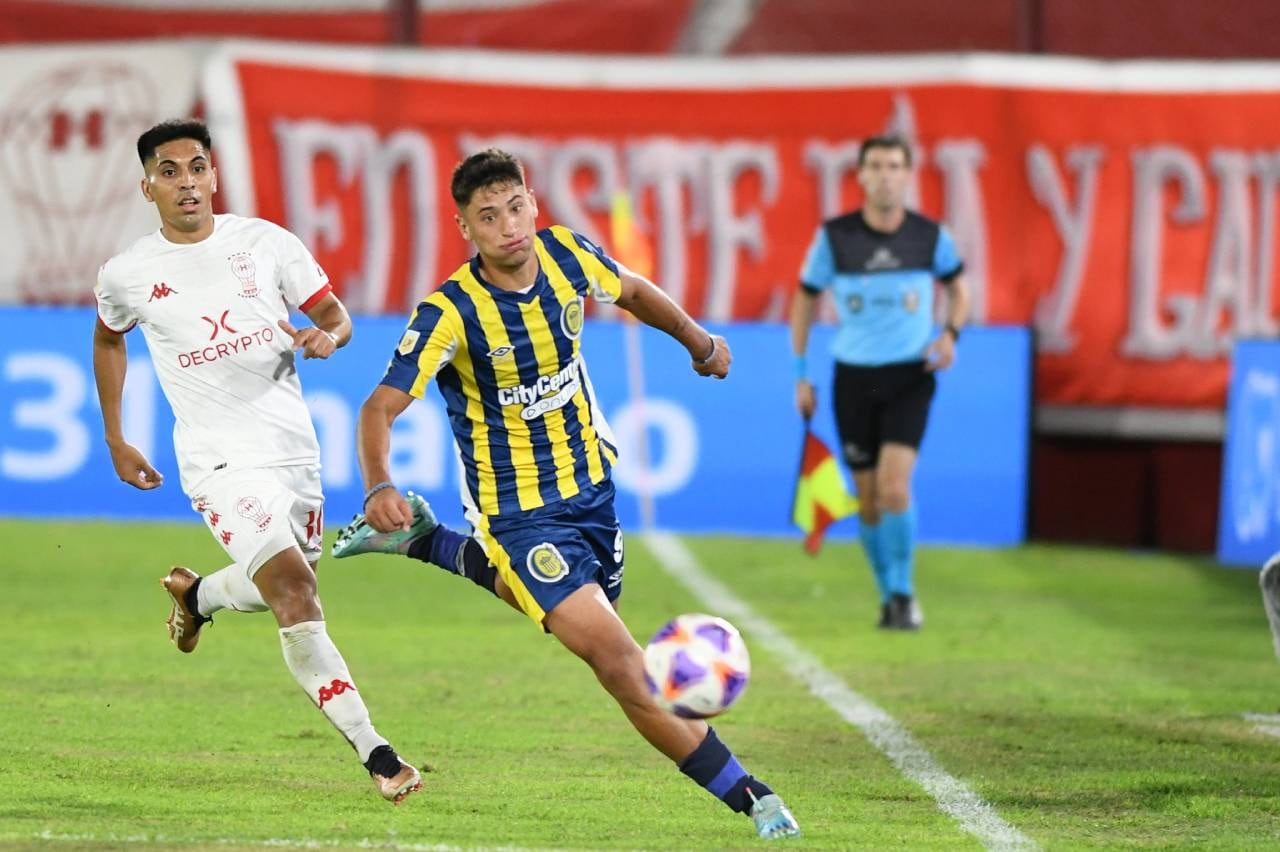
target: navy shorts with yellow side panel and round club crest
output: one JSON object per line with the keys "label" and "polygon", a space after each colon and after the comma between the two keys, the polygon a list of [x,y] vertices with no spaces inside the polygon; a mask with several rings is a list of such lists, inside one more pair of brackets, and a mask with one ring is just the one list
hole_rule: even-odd
{"label": "navy shorts with yellow side panel and round club crest", "polygon": [[611,601],[622,594],[622,527],[604,480],[559,503],[488,519],[480,537],[520,608],[541,626],[547,613],[588,583]]}

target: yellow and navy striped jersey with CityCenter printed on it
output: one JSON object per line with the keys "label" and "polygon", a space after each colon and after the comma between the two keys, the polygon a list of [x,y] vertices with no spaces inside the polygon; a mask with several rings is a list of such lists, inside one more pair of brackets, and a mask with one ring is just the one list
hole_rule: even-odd
{"label": "yellow and navy striped jersey with CityCenter printed on it", "polygon": [[524,293],[488,283],[479,256],[419,303],[381,384],[444,398],[463,503],[486,517],[566,500],[617,461],[580,353],[585,297],[618,298],[617,264],[553,225],[534,237],[540,270]]}

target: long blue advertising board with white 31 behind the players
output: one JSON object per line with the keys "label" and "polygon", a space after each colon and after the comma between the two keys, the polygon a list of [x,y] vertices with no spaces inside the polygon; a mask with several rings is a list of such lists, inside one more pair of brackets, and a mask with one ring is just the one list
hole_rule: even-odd
{"label": "long blue advertising board with white 31 behind the players", "polygon": [[[402,317],[357,317],[352,343],[328,361],[300,361],[321,444],[330,525],[360,508],[356,416],[403,331]],[[90,308],[0,310],[0,516],[196,519],[178,487],[173,416],[141,334],[131,334],[124,429],[166,481],[137,491],[116,480],[93,389]],[[718,329],[733,349],[726,381],[701,379],[662,333],[589,322],[591,383],[618,439],[618,513],[681,532],[794,535],[791,493],[801,425],[792,402],[787,329]],[[831,329],[814,330],[820,394],[815,430],[837,449],[829,406]],[[640,365],[640,368],[635,368]],[[1012,545],[1027,526],[1030,338],[1025,329],[965,331],[938,381],[915,478],[927,541]],[[640,459],[648,458],[646,464]],[[397,421],[392,472],[461,523],[458,466],[434,390]],[[648,494],[646,500],[643,495]],[[648,507],[648,508],[646,508]],[[835,536],[856,532],[841,522]]]}

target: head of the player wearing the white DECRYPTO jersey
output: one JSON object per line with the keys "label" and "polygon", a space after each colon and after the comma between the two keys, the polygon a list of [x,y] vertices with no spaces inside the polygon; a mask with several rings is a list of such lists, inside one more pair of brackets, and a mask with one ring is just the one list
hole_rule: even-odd
{"label": "head of the player wearing the white DECRYPTO jersey", "polygon": [[196,139],[174,139],[147,160],[142,194],[155,202],[166,232],[200,234],[212,226],[218,171]]}

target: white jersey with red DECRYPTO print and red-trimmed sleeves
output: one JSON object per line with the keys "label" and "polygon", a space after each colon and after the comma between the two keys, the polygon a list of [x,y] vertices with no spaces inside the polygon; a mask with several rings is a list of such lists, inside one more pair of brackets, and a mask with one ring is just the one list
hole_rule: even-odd
{"label": "white jersey with red DECRYPTO print and red-trimmed sleeves", "polygon": [[172,243],[157,230],[102,266],[99,319],[118,334],[142,326],[177,417],[188,496],[214,471],[319,464],[293,340],[276,321],[329,290],[302,241],[232,215],[214,216],[214,233],[198,243]]}

